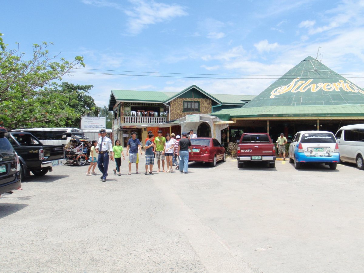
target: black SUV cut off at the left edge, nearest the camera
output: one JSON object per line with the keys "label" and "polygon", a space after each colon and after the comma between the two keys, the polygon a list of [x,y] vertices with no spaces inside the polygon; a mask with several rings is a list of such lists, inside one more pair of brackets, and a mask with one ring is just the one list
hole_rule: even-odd
{"label": "black SUV cut off at the left edge, nearest the camera", "polygon": [[7,139],[9,134],[0,127],[0,195],[21,187],[18,155]]}

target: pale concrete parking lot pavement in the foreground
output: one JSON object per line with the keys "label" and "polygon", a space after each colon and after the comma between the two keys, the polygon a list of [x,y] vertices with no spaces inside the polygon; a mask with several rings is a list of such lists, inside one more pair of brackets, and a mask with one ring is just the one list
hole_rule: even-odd
{"label": "pale concrete parking lot pavement in the foreground", "polygon": [[59,166],[2,195],[0,272],[363,272],[353,165],[143,169]]}

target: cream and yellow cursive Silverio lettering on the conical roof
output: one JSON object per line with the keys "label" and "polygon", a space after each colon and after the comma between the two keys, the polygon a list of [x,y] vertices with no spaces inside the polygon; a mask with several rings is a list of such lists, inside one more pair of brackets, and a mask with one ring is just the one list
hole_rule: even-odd
{"label": "cream and yellow cursive Silverio lettering on the conical roof", "polygon": [[300,78],[293,79],[290,84],[285,86],[280,86],[274,88],[272,92],[270,92],[270,98],[273,99],[275,96],[282,95],[286,92],[306,92],[311,90],[311,92],[317,92],[318,90],[322,89],[323,91],[346,91],[346,92],[353,92],[353,93],[361,93],[364,94],[364,91],[357,87],[355,84],[349,82],[348,80],[344,82],[343,80],[339,80],[337,83],[311,83],[313,79],[309,79],[307,81],[300,80]]}

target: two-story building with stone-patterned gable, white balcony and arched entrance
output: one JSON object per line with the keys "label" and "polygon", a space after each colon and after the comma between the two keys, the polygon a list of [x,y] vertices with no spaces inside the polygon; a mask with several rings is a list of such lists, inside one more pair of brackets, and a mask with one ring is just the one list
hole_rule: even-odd
{"label": "two-story building with stone-patterned gable, white balcony and arched entrance", "polygon": [[158,130],[166,133],[189,132],[199,137],[221,139],[221,130],[229,122],[208,115],[222,110],[241,108],[254,96],[209,94],[193,85],[179,93],[155,91],[111,90],[108,110],[114,112],[112,126],[114,139],[124,146],[132,131],[142,140],[147,132],[157,135]]}

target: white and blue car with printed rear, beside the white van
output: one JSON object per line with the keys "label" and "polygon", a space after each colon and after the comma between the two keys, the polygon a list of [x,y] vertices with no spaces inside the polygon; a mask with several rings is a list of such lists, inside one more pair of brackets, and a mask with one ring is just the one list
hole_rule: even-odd
{"label": "white and blue car with printed rear, beside the white van", "polygon": [[289,163],[294,169],[300,169],[303,163],[325,163],[335,170],[339,161],[339,146],[332,132],[300,131],[289,145]]}

